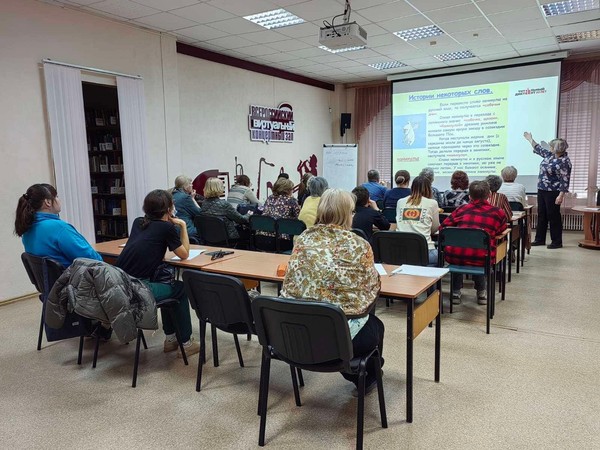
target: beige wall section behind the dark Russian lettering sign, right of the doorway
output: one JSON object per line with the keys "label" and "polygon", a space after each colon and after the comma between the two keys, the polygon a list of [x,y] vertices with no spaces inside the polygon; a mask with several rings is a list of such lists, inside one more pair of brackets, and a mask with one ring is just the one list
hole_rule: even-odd
{"label": "beige wall section behind the dark Russian lettering sign, right of the doorway", "polygon": [[[297,184],[300,160],[315,154],[320,164],[323,144],[332,139],[336,93],[185,55],[178,55],[178,73],[181,148],[185,171],[192,178],[206,169],[228,171],[233,177],[237,156],[256,191],[259,160],[264,157],[275,164],[262,166],[264,200],[266,182],[277,178],[280,167]],[[282,102],[293,107],[294,142],[250,141],[249,106],[276,107]]]}

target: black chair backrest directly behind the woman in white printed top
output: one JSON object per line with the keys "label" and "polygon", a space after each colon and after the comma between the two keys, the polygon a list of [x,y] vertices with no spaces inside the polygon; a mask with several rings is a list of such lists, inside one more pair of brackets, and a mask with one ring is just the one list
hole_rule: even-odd
{"label": "black chair backrest directly behind the woman in white printed top", "polygon": [[384,264],[429,264],[429,247],[425,236],[419,233],[378,231],[371,238],[375,262]]}

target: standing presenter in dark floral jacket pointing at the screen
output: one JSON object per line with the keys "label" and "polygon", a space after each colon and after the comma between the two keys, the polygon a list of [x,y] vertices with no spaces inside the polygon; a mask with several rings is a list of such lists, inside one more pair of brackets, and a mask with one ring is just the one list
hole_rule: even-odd
{"label": "standing presenter in dark floral jacket pointing at the screen", "polygon": [[571,160],[567,154],[569,144],[564,139],[550,141],[550,150],[546,150],[533,140],[528,131],[523,133],[533,147],[533,153],[543,159],[538,175],[538,224],[535,240],[531,245],[545,245],[546,231],[550,225],[550,249],[562,247],[562,216],[560,205],[569,192],[571,179]]}

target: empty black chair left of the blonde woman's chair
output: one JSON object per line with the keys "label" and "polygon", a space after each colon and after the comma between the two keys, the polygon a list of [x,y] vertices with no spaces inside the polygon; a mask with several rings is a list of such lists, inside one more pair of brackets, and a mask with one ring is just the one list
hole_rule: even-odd
{"label": "empty black chair left of the blonde woman's chair", "polygon": [[237,335],[256,332],[250,298],[238,278],[195,270],[184,270],[182,277],[190,305],[200,322],[200,358],[196,377],[196,391],[200,392],[202,365],[206,360],[206,324],[211,325],[215,367],[219,366],[217,329],[233,334],[240,367],[244,367],[244,359]]}

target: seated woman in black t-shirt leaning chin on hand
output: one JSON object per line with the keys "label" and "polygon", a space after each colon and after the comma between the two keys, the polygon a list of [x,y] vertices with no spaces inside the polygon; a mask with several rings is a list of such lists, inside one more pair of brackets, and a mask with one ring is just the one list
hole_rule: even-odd
{"label": "seated woman in black t-shirt leaning chin on hand", "polygon": [[[154,281],[167,248],[181,259],[189,256],[187,227],[183,220],[173,216],[173,197],[167,191],[157,189],[150,192],[144,199],[143,209],[145,215],[133,222],[127,245],[117,258],[116,265],[128,275],[141,279],[150,288],[157,302],[167,298],[179,300],[179,304],[174,308],[175,321],[185,353],[190,356],[200,351],[200,344],[192,337],[190,304],[183,282]],[[166,336],[163,351],[167,353],[177,350],[179,346],[175,336],[175,325],[168,314],[162,314],[162,323]],[[178,353],[177,356],[181,354]]]}

